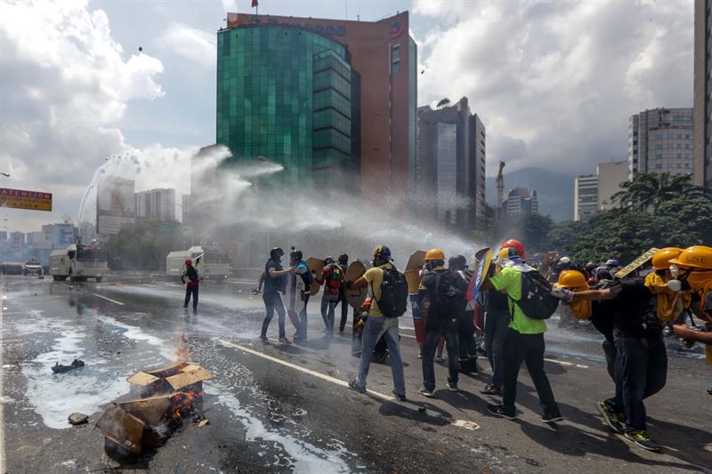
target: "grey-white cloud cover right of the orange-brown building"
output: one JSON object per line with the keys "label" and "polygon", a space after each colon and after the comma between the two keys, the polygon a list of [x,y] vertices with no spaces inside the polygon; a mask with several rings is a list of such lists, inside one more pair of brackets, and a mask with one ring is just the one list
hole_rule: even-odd
{"label": "grey-white cloud cover right of the orange-brown building", "polygon": [[415,0],[414,13],[429,25],[420,102],[465,91],[490,137],[489,173],[500,158],[510,171],[590,173],[627,157],[629,116],[692,107],[692,2]]}

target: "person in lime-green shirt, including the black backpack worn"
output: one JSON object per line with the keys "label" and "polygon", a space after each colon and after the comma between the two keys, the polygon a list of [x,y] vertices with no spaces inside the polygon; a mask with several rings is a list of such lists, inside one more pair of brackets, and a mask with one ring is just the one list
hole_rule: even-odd
{"label": "person in lime-green shirt, including the black backpack worn", "polygon": [[[544,371],[544,319],[551,317],[558,301],[551,295],[551,285],[538,271],[522,262],[514,247],[498,253],[498,271],[482,285],[482,291],[495,289],[508,299],[511,321],[506,333],[504,348],[504,395],[499,405],[489,405],[490,414],[514,420],[517,417],[517,377],[522,362],[527,365],[531,380],[537,389],[539,404],[544,409],[542,422],[563,420]],[[545,295],[546,293],[546,295]],[[550,299],[549,299],[550,298]],[[529,314],[527,314],[529,312]]]}

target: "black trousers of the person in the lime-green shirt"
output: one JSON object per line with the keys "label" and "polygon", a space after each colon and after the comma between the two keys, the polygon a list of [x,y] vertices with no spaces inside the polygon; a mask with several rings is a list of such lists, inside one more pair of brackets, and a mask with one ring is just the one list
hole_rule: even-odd
{"label": "black trousers of the person in the lime-green shirt", "polygon": [[517,376],[522,362],[527,365],[527,370],[537,388],[539,405],[544,409],[544,414],[560,415],[559,406],[554,400],[554,392],[544,372],[544,333],[522,334],[507,330],[505,341],[505,394],[503,404],[506,414],[514,415],[514,400],[517,398]]}

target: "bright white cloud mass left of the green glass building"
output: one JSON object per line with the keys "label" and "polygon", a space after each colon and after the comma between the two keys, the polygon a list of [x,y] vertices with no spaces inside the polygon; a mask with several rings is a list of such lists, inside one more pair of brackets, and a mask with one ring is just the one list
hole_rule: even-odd
{"label": "bright white cloud mass left of the green glass building", "polygon": [[[116,128],[131,100],[154,100],[162,63],[127,54],[105,12],[85,1],[0,4],[0,164],[4,186],[54,193],[53,216],[77,214],[104,157],[131,147]],[[52,216],[12,211],[12,226]]]}

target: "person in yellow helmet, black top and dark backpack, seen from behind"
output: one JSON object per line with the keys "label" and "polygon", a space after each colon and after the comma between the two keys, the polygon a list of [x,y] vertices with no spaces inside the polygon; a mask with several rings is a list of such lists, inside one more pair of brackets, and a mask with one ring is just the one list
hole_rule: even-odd
{"label": "person in yellow helmet, black top and dark backpack, seen from behind", "polygon": [[445,269],[445,253],[440,249],[428,250],[423,261],[426,271],[420,280],[418,293],[428,307],[428,318],[425,322],[425,346],[421,358],[423,386],[420,393],[431,398],[435,390],[435,350],[443,337],[448,349],[448,390],[457,391],[457,324],[465,311],[467,284],[457,273]]}

